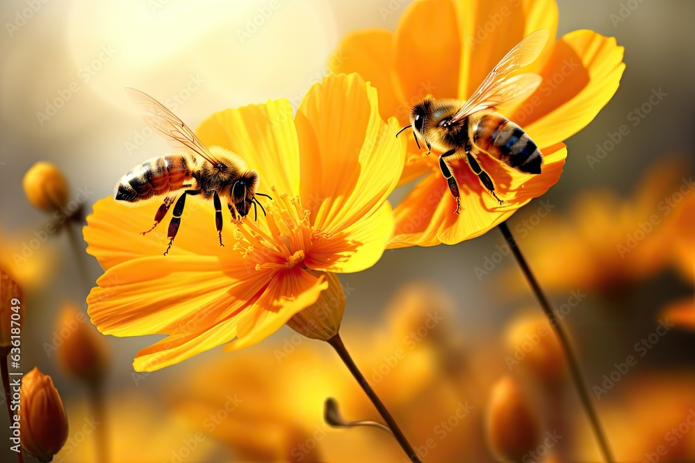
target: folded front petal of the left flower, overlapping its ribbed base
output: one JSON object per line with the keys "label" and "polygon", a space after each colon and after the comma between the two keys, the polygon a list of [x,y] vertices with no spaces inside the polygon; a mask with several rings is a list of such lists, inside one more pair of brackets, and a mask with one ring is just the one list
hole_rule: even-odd
{"label": "folded front petal of the left flower, overlapping its ribbed base", "polygon": [[321,292],[327,288],[324,276],[317,278],[300,267],[278,273],[258,301],[239,314],[238,339],[227,344],[225,350],[236,351],[261,342],[294,314],[318,301]]}

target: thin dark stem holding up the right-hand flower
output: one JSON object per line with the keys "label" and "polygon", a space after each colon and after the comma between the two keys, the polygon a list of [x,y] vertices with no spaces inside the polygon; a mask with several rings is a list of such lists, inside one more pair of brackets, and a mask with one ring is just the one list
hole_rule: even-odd
{"label": "thin dark stem holding up the right-hand flower", "polygon": [[591,430],[593,430],[594,435],[596,435],[596,440],[598,440],[598,447],[600,448],[600,452],[603,454],[603,459],[607,462],[614,462],[615,460],[613,458],[613,453],[611,452],[610,446],[608,445],[608,439],[605,436],[605,432],[603,431],[600,421],[598,421],[598,414],[596,414],[596,410],[594,410],[594,405],[591,403],[591,398],[589,397],[589,390],[587,388],[586,382],[584,381],[584,378],[582,377],[582,372],[579,369],[577,356],[575,355],[570,345],[569,335],[567,335],[567,332],[560,324],[560,321],[557,318],[555,312],[553,312],[553,309],[550,308],[548,298],[546,298],[546,295],[543,294],[543,290],[539,286],[536,278],[533,276],[533,273],[531,272],[531,269],[528,267],[526,260],[523,258],[521,251],[518,249],[516,240],[514,239],[514,236],[512,236],[512,232],[509,231],[507,222],[502,222],[498,227],[500,228],[500,231],[502,231],[502,235],[505,235],[505,239],[507,239],[507,244],[509,244],[509,248],[512,249],[512,253],[514,253],[514,257],[516,258],[516,262],[519,264],[519,267],[521,267],[521,271],[523,271],[526,280],[528,280],[529,285],[531,285],[531,288],[533,289],[533,292],[536,295],[538,302],[541,304],[541,308],[543,308],[543,312],[545,312],[546,317],[548,317],[548,321],[550,321],[550,326],[552,326],[553,330],[555,330],[557,339],[559,339],[560,345],[562,346],[565,356],[567,357],[567,364],[569,365],[570,376],[572,378],[572,381],[574,382],[575,387],[577,388],[577,393],[579,394],[582,407],[584,407],[584,412],[586,412],[587,416],[589,417]]}

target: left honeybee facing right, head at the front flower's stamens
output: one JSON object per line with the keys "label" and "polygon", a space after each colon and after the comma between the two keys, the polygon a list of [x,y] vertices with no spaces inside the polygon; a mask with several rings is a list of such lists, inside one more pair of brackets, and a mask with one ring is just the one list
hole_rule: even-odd
{"label": "left honeybee facing right, head at the front flower's stamens", "polygon": [[[160,135],[170,145],[185,152],[165,154],[152,158],[134,167],[118,181],[114,197],[127,205],[149,201],[164,196],[163,203],[154,215],[154,225],[142,235],[151,232],[164,219],[169,208],[174,204],[179,192],[181,195],[174,205],[173,216],[169,222],[167,237],[169,244],[164,255],[170,251],[179,231],[181,214],[186,205],[186,196],[200,195],[213,201],[215,206],[215,228],[222,244],[222,199],[232,215],[232,221],[241,221],[254,206],[255,218],[258,218],[256,205],[265,209],[256,196],[258,193],[259,174],[249,169],[246,162],[237,154],[221,146],[204,144],[195,133],[183,124],[162,103],[145,93],[133,88],[124,89],[126,97],[142,114],[140,118],[149,128]],[[272,199],[272,198],[270,198]]]}

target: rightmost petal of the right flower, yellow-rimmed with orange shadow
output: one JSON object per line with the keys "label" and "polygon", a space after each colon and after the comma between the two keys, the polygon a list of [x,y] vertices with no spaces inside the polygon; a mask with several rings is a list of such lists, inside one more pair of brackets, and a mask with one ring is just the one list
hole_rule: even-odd
{"label": "rightmost petal of the right flower, yellow-rimmed with orange shadow", "polygon": [[614,37],[574,31],[555,44],[543,83],[510,117],[539,147],[562,142],[587,126],[618,90],[625,69]]}

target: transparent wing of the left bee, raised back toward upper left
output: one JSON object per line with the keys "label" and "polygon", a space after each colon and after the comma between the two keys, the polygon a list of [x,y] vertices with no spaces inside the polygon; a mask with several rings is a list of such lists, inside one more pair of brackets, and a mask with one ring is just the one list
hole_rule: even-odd
{"label": "transparent wing of the left bee, raised back toward upper left", "polygon": [[123,92],[128,100],[142,111],[140,119],[170,145],[177,149],[194,151],[213,165],[218,164],[218,160],[198,140],[195,133],[166,106],[156,101],[152,96],[134,88],[124,88]]}

